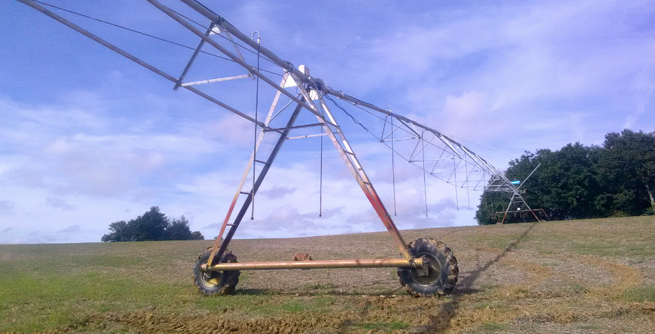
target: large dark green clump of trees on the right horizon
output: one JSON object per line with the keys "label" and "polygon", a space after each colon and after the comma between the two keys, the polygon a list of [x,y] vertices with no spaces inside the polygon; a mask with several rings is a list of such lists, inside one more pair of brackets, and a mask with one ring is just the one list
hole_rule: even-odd
{"label": "large dark green clump of trees on the right horizon", "polygon": [[[509,161],[509,180],[526,179],[521,187],[531,208],[542,208],[549,219],[588,219],[653,215],[655,212],[655,132],[607,133],[602,146],[568,144],[558,151],[526,151]],[[495,224],[495,212],[505,211],[511,194],[484,192],[478,224]]]}

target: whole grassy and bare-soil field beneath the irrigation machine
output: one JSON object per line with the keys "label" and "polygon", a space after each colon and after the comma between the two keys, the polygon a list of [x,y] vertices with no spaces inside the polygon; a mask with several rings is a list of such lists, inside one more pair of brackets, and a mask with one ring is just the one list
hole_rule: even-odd
{"label": "whole grassy and bare-soil field beneath the irrigation machine", "polygon": [[[395,270],[242,272],[204,297],[211,240],[0,245],[0,332],[652,333],[655,217],[402,231],[446,242],[454,293],[412,298]],[[239,261],[399,257],[387,233],[234,240]]]}

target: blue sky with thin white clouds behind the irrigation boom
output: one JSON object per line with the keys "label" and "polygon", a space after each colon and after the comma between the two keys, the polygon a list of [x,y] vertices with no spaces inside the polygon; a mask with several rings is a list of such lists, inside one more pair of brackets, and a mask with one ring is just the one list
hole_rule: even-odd
{"label": "blue sky with thin white clouds behind the irrigation boom", "polygon": [[[146,1],[47,2],[198,43]],[[655,131],[649,1],[205,2],[244,34],[260,31],[262,45],[330,87],[455,136],[501,169],[525,150],[601,145],[605,133],[625,128]],[[190,57],[55,13],[171,75]],[[0,243],[98,242],[109,223],[153,205],[171,218],[185,215],[206,238],[218,234],[253,145],[251,123],[174,92],[167,80],[17,1],[0,3],[0,29]],[[243,74],[210,58],[188,79]],[[252,113],[252,80],[212,85],[206,89],[218,99]],[[389,152],[339,117],[392,208]],[[237,238],[383,229],[327,142],[319,218],[320,143],[289,141],[262,185],[255,220]],[[428,180],[425,217],[420,170],[396,166],[395,173],[399,228],[475,224],[479,193]]]}

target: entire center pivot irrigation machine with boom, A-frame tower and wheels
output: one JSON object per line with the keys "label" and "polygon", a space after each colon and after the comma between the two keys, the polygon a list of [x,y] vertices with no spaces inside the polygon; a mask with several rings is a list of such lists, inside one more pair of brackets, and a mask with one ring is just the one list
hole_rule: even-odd
{"label": "entire center pivot irrigation machine with boom, A-frame tower and wheels", "polygon": [[[373,136],[376,136],[380,143],[389,147],[391,150],[392,164],[394,157],[397,156],[423,170],[424,180],[425,175],[430,175],[452,184],[456,189],[466,189],[467,191],[504,191],[511,193],[513,198],[520,198],[525,203],[518,187],[512,184],[500,170],[488,164],[488,162],[467,147],[457,143],[448,136],[444,136],[443,133],[435,129],[393,113],[390,108],[379,108],[371,103],[360,101],[353,96],[332,89],[325,81],[311,76],[307,67],[301,65],[295,68],[290,62],[284,61],[267,48],[264,48],[260,43],[259,36],[256,39],[255,34],[246,36],[227,22],[225,18],[220,17],[198,1],[181,0],[182,3],[191,9],[194,15],[202,17],[203,21],[207,20],[205,21],[207,24],[204,25],[197,23],[197,20],[192,20],[188,16],[178,13],[178,11],[168,6],[164,6],[157,0],[147,0],[199,38],[197,48],[192,52],[181,75],[178,76],[164,73],[164,71],[146,63],[146,61],[134,57],[115,45],[104,41],[102,38],[69,22],[69,20],[52,13],[52,11],[41,6],[38,1],[17,1],[35,8],[41,13],[65,24],[67,27],[78,31],[80,34],[104,45],[106,48],[136,62],[136,64],[161,75],[173,83],[174,89],[180,87],[188,89],[190,92],[202,96],[204,99],[215,103],[221,108],[233,112],[255,124],[253,152],[244,171],[244,175],[241,178],[241,182],[239,182],[238,189],[234,194],[234,199],[227,211],[223,226],[220,228],[213,247],[201,252],[194,265],[195,285],[200,292],[206,295],[233,292],[239,282],[239,270],[311,268],[398,268],[397,273],[400,277],[400,282],[403,286],[407,287],[407,290],[411,294],[416,296],[430,296],[452,291],[457,282],[458,266],[451,249],[446,247],[442,242],[430,238],[419,238],[409,242],[409,244],[403,240],[389,211],[383,205],[371,180],[369,180],[362,164],[360,164],[357,155],[348,143],[348,140],[346,140],[346,136],[342,132],[334,113],[330,110],[327,101],[332,102],[331,105],[342,110],[356,124],[362,126],[362,128]],[[47,6],[45,3],[41,4]],[[188,8],[186,9],[188,10]],[[66,11],[74,13],[70,10]],[[256,34],[258,35],[258,33]],[[218,51],[220,53],[218,55],[212,54],[204,50],[207,48],[211,48],[212,52]],[[225,68],[225,72],[227,73],[234,74],[232,72],[235,69],[239,71],[239,68],[241,68],[240,71],[242,71],[242,74],[193,82],[185,81],[185,76],[188,75],[193,64],[201,55],[212,55],[218,58],[219,60],[216,63],[224,64],[225,66],[223,68]],[[262,63],[264,64],[263,66]],[[212,66],[215,67],[216,64],[212,64]],[[243,74],[244,68],[245,74]],[[274,81],[272,79],[274,76],[281,77],[281,80]],[[256,85],[254,117],[248,115],[246,112],[237,110],[237,108],[228,106],[212,95],[195,88],[202,84],[209,85],[213,82],[226,82],[247,78],[251,78],[253,85]],[[272,87],[272,90],[269,88],[270,92],[275,92],[268,113],[263,118],[259,117],[257,112],[258,101],[260,99],[260,81]],[[229,94],[223,94],[221,97],[230,97],[225,95]],[[355,118],[353,115],[354,112],[346,111],[332,97],[339,99],[342,103],[349,104],[350,106],[348,108],[358,112],[358,117]],[[288,108],[289,106],[292,108]],[[366,118],[367,121],[362,122],[358,120],[360,117]],[[316,132],[305,133],[301,136],[291,136],[300,131],[311,129],[314,129]],[[376,131],[373,129],[381,129],[381,131],[378,131],[376,134]],[[268,142],[264,140],[265,136],[274,137],[274,140],[270,141],[272,145],[267,145]],[[227,246],[230,244],[230,240],[232,240],[241,221],[248,213],[248,209],[254,207],[255,194],[267,175],[269,168],[274,163],[283,143],[290,139],[318,136],[321,136],[321,138],[322,136],[327,136],[337,149],[341,159],[343,159],[353,177],[355,177],[355,180],[381,219],[382,224],[388,230],[391,239],[397,246],[400,254],[402,254],[402,258],[314,261],[307,254],[297,254],[293,257],[293,261],[238,263],[237,257],[227,250]],[[262,143],[265,145],[262,145]],[[244,191],[247,180],[252,180],[252,184],[248,184],[248,187],[251,186],[251,189]],[[237,212],[234,219],[232,219],[232,213],[237,203],[241,203],[241,209]],[[528,210],[530,210],[529,207]],[[535,216],[535,218],[537,217]],[[226,230],[227,233],[225,233]]]}

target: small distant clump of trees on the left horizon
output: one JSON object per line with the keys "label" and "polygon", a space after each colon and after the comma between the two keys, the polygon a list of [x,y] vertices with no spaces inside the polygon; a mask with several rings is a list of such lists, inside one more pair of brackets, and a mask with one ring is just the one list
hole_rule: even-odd
{"label": "small distant clump of trees on the left horizon", "polygon": [[129,222],[121,220],[109,224],[110,233],[102,236],[103,242],[109,241],[160,241],[160,240],[204,240],[200,231],[189,228],[188,220],[169,219],[153,206],[143,215]]}

